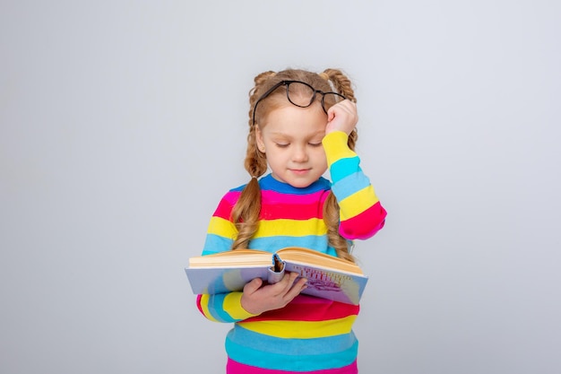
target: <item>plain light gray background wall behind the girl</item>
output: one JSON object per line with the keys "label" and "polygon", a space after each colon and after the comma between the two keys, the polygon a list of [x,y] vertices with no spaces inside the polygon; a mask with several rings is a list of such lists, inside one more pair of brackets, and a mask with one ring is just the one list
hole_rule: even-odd
{"label": "plain light gray background wall behind the girl", "polygon": [[561,372],[560,11],[2,1],[0,371],[222,371],[183,267],[248,178],[255,74],[291,66],[350,75],[389,211],[361,372]]}

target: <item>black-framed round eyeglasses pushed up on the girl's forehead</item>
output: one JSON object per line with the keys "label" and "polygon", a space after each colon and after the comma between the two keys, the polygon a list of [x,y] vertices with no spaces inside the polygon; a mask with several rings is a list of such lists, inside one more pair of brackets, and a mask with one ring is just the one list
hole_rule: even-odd
{"label": "black-framed round eyeglasses pushed up on the girl's forehead", "polygon": [[[261,97],[257,99],[257,101],[255,101],[254,126],[255,126],[255,111],[257,110],[257,104],[259,104],[262,100],[264,100],[269,95],[271,95],[273,91],[275,91],[282,85],[286,87],[287,99],[290,101],[290,103],[300,108],[307,108],[310,105],[312,105],[312,103],[315,100],[315,94],[320,93],[322,95],[322,109],[324,109],[325,114],[327,114],[327,109],[331,108],[337,102],[342,100],[347,100],[347,98],[341,95],[341,93],[315,90],[315,88],[309,85],[308,83],[304,83],[300,81],[280,81],[279,83],[272,86],[265,93],[263,93],[263,95],[261,95]],[[325,105],[328,105],[327,109],[325,109]]]}

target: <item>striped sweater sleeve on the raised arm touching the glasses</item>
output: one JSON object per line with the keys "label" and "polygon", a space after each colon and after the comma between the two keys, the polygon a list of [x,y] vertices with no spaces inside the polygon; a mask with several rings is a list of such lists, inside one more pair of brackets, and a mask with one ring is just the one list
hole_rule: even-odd
{"label": "striped sweater sleeve on the raised arm touching the glasses", "polygon": [[347,142],[342,131],[333,131],[323,140],[332,192],[341,208],[339,231],[346,239],[368,239],[384,227],[387,213]]}

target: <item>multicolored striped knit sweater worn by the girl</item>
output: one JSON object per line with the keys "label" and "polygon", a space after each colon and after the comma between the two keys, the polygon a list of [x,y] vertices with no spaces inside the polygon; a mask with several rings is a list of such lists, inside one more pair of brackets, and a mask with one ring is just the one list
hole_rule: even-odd
{"label": "multicolored striped knit sweater worn by the girl", "polygon": [[[249,248],[275,252],[284,247],[313,248],[337,256],[328,245],[323,220],[330,190],[340,204],[341,235],[367,239],[384,227],[386,212],[348,137],[332,132],[324,149],[332,182],[319,178],[305,188],[291,187],[268,175],[259,180],[262,208],[259,229]],[[203,255],[229,250],[237,236],[230,213],[243,190],[230,190],[211,217]],[[357,373],[358,341],[352,325],[358,306],[298,295],[283,309],[255,316],[241,307],[242,292],[199,295],[197,306],[212,321],[234,323],[226,338],[229,374]]]}

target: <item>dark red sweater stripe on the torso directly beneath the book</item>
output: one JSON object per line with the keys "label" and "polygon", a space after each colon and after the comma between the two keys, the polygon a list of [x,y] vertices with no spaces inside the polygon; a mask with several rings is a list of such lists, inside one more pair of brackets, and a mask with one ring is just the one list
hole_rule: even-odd
{"label": "dark red sweater stripe on the torso directly beneath the book", "polygon": [[246,322],[256,321],[325,321],[349,316],[357,316],[358,305],[298,295],[289,305],[282,309],[270,310]]}

